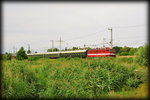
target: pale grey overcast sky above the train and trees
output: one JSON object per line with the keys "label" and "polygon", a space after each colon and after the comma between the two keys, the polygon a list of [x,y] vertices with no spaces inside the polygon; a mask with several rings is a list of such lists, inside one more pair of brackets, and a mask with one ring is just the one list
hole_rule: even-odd
{"label": "pale grey overcast sky above the train and trees", "polygon": [[148,42],[147,2],[3,2],[2,20],[2,52],[109,47],[108,28],[113,46]]}

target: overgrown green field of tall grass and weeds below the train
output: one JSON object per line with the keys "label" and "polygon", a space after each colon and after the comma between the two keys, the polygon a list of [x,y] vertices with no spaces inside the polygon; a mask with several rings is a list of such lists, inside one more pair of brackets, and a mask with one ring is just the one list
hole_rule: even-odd
{"label": "overgrown green field of tall grass and weeds below the train", "polygon": [[3,98],[147,98],[148,68],[133,58],[2,61]]}

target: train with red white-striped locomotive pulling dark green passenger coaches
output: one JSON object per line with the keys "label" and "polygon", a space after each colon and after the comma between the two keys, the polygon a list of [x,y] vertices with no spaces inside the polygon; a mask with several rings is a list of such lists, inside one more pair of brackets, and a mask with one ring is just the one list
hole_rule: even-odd
{"label": "train with red white-striped locomotive pulling dark green passenger coaches", "polygon": [[46,52],[46,53],[32,53],[27,56],[38,56],[45,58],[60,58],[60,57],[116,57],[116,52],[111,48],[98,48],[88,50],[75,50],[75,51],[57,51],[57,52]]}

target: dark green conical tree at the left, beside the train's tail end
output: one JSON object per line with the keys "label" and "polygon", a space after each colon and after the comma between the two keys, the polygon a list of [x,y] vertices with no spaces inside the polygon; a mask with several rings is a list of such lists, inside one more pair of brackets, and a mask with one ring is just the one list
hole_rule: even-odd
{"label": "dark green conical tree at the left, beside the train's tail end", "polygon": [[25,50],[23,47],[21,47],[19,49],[19,51],[17,52],[17,55],[16,55],[16,59],[17,60],[24,60],[24,59],[27,59],[27,54],[25,53]]}

